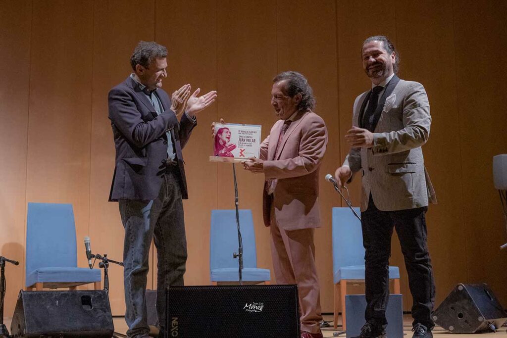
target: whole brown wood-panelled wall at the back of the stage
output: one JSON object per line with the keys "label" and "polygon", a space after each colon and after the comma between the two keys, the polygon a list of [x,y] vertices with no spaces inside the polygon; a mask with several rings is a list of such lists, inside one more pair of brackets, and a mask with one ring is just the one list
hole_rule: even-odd
{"label": "whole brown wood-panelled wall at the back of the stage", "polygon": [[[9,11],[5,10],[9,8]],[[270,105],[272,78],[294,69],[309,79],[316,112],[330,140],[321,176],[334,173],[348,152],[354,98],[370,81],[360,48],[372,34],[391,37],[401,54],[401,77],[422,83],[433,124],[424,145],[426,167],[439,204],[427,213],[437,304],[458,282],[487,282],[502,304],[507,286],[498,273],[507,258],[501,207],[491,177],[492,156],[505,153],[505,2],[342,1],[233,2],[226,0],[128,1],[0,0],[0,254],[18,259],[9,267],[6,316],[24,280],[27,202],[72,203],[79,265],[82,239],[112,258],[123,255],[118,205],[107,202],[114,144],[107,119],[107,92],[131,72],[139,40],[169,50],[171,93],[184,83],[219,99],[198,117],[184,149],[190,200],[184,202],[188,238],[187,284],[209,284],[209,218],[212,209],[233,209],[232,167],[209,163],[211,122],[261,124],[267,136],[276,122]],[[269,230],[262,223],[263,177],[237,166],[240,208],[252,209],[258,266],[272,270]],[[316,232],[324,312],[332,311],[331,207],[343,206],[320,178],[322,228]],[[358,205],[360,183],[351,185]],[[402,272],[404,308],[411,297],[399,244],[391,264]],[[152,252],[152,267],[157,259]],[[122,271],[111,267],[113,313],[124,313]],[[273,276],[273,273],[272,273]],[[274,276],[273,276],[274,279]],[[148,286],[156,285],[155,270]],[[364,292],[353,287],[353,292]]]}

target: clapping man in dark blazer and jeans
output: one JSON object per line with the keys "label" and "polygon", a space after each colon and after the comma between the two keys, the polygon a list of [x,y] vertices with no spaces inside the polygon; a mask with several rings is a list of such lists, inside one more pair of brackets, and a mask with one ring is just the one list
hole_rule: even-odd
{"label": "clapping man in dark blazer and jeans", "polygon": [[[165,331],[164,290],[183,285],[187,241],[183,201],[188,198],[182,155],[197,125],[196,113],[216,98],[211,91],[190,95],[190,85],[172,94],[161,89],[167,77],[167,49],[141,41],[130,63],[133,73],[111,89],[109,118],[116,162],[110,201],[118,201],[125,228],[125,320],[128,337],[148,337],[145,291],[148,256],[155,240],[158,257],[157,313]],[[182,115],[178,122],[177,116]]]}

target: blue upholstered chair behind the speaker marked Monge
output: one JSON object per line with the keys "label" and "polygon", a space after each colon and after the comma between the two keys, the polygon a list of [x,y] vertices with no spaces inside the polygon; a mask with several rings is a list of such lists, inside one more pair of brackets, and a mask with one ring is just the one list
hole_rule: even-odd
{"label": "blue upholstered chair behind the speaker marked Monge", "polygon": [[[242,280],[257,284],[271,280],[268,269],[257,268],[257,250],[251,210],[239,210],[239,224],[243,238]],[[237,284],[239,282],[237,258],[238,231],[236,210],[211,210],[211,234],[209,245],[209,274],[216,284]]]}

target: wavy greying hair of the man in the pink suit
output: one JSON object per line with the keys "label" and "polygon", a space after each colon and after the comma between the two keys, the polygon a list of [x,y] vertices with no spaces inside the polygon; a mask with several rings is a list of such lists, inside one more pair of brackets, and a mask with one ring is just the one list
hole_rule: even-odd
{"label": "wavy greying hair of the man in the pink suit", "polygon": [[313,96],[312,87],[310,87],[308,80],[306,80],[303,74],[297,71],[284,71],[273,79],[273,83],[280,81],[285,81],[285,86],[282,89],[285,95],[294,97],[298,93],[301,93],[302,99],[297,107],[299,111],[315,109],[317,103],[315,96]]}

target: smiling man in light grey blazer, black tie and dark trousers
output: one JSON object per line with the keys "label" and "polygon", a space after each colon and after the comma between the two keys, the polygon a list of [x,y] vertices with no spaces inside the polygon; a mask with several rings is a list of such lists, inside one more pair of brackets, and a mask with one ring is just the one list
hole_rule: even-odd
{"label": "smiling man in light grey blazer, black tie and dark trousers", "polygon": [[338,184],[361,171],[361,227],[366,249],[366,324],[358,337],[385,337],[389,256],[393,227],[400,239],[412,306],[413,337],[432,337],[435,286],[427,247],[425,213],[436,203],[421,146],[431,117],[424,87],[396,76],[399,57],[386,36],[363,44],[363,68],[372,89],[357,96],[350,152],[336,170]]}

